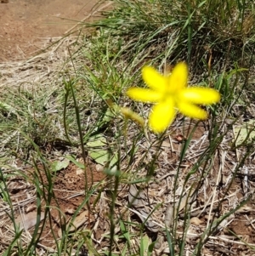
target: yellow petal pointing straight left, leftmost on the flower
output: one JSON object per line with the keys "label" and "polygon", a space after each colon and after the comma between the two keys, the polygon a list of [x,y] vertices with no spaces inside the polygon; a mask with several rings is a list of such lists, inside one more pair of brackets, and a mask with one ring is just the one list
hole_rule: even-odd
{"label": "yellow petal pointing straight left, leftmost on the flower", "polygon": [[157,102],[161,100],[161,94],[146,88],[129,88],[126,92],[127,96],[133,100],[142,102]]}

